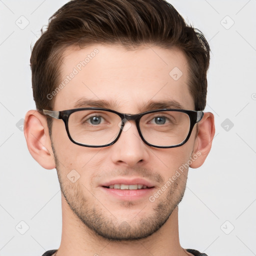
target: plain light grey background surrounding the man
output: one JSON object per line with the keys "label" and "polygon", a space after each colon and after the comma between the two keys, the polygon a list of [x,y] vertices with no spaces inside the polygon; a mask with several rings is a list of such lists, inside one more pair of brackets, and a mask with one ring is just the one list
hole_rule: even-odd
{"label": "plain light grey background surrounding the man", "polygon": [[[34,109],[30,45],[65,2],[0,0],[1,256],[41,255],[60,243],[56,170],[30,156],[21,129]],[[209,41],[206,110],[216,125],[205,163],[189,170],[179,205],[181,246],[209,256],[256,255],[256,0],[170,2]]]}

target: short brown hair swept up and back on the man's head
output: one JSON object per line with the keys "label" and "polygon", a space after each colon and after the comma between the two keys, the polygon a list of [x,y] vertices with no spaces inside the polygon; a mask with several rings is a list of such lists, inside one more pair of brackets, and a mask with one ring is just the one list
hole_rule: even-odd
{"label": "short brown hair swept up and back on the man's head", "polygon": [[178,47],[188,61],[189,91],[195,110],[206,104],[209,45],[165,0],[71,0],[49,19],[30,58],[33,97],[38,110],[53,107],[48,99],[59,83],[61,55],[68,46],[93,43],[138,47]]}

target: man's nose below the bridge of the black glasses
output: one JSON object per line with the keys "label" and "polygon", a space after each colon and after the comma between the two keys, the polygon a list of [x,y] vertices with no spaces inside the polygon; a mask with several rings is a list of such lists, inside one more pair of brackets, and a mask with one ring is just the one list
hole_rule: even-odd
{"label": "man's nose below the bridge of the black glasses", "polygon": [[115,164],[132,167],[148,161],[149,146],[141,140],[133,120],[125,122],[120,137],[111,147],[111,160]]}

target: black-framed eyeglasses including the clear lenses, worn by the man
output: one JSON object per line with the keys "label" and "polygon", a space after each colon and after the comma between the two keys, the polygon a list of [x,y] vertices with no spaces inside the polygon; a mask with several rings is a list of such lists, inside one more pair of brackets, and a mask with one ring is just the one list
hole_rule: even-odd
{"label": "black-framed eyeglasses including the clear lenses, worn by the man", "polygon": [[42,110],[42,113],[62,119],[69,139],[81,146],[104,147],[115,143],[134,120],[138,134],[149,146],[170,148],[183,145],[195,123],[201,120],[202,111],[184,109],[156,109],[138,114],[83,107],[63,111]]}

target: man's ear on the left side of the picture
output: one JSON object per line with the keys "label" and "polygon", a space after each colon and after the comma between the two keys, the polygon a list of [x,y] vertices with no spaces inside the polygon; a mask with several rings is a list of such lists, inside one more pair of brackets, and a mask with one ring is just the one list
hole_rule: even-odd
{"label": "man's ear on the left side of the picture", "polygon": [[46,117],[29,110],[25,115],[24,135],[32,157],[45,169],[55,168]]}

